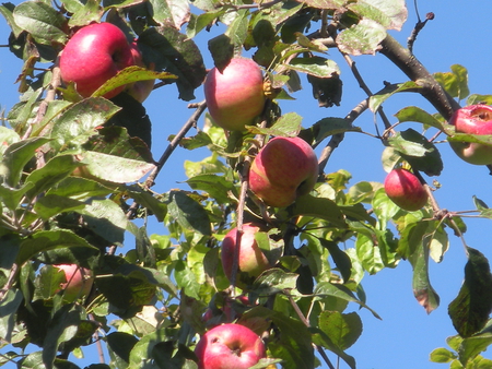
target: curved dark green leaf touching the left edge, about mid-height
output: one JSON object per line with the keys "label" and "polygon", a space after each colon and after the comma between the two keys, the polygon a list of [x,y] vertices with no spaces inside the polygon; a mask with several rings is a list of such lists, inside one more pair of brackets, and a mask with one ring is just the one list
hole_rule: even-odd
{"label": "curved dark green leaf touching the left edge, about mid-height", "polygon": [[34,157],[36,150],[49,142],[46,138],[32,138],[12,143],[0,162],[0,182],[16,187],[25,165]]}

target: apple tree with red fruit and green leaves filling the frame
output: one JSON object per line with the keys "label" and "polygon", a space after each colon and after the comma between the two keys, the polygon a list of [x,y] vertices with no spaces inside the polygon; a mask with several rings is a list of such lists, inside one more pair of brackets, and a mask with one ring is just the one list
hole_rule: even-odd
{"label": "apple tree with red fruit and green leaves filling the frame", "polygon": [[[206,365],[207,346],[195,350],[206,332],[229,324],[255,333],[256,356],[245,368],[341,360],[353,369],[347,349],[362,320],[350,307],[378,318],[364,275],[410,263],[414,297],[429,313],[440,305],[429,264],[456,238],[468,260],[447,307],[456,353],[438,348],[431,360],[492,367],[481,356],[492,343],[489,262],[466,243],[462,214],[441,209],[432,187],[446,160],[437,136],[470,165],[492,165],[492,96],[470,94],[464,67],[431,74],[413,55],[432,14],[401,45],[390,33],[407,20],[403,0],[36,0],[2,3],[0,12],[11,28],[10,58],[22,61],[20,103],[0,127],[1,365],[80,368],[84,352],[104,348],[109,360],[90,368],[242,368],[231,358]],[[94,32],[106,40],[78,59],[86,40],[67,45],[99,23],[126,40]],[[298,94],[312,93],[319,108],[340,104],[347,67],[335,53],[351,71],[343,79],[355,79],[366,98],[316,122],[283,112]],[[362,55],[387,58],[407,81],[372,92],[353,62]],[[237,60],[254,67],[235,70]],[[85,93],[78,76],[89,73],[97,86]],[[174,88],[192,111],[167,143],[152,136],[154,117],[142,105],[162,88]],[[391,123],[384,105],[401,93],[432,109],[401,106]],[[364,112],[377,116],[371,130],[358,123]],[[383,183],[349,184],[349,172],[327,170],[352,132],[377,140],[385,170],[406,170],[420,192],[405,178],[387,193]],[[289,145],[267,154],[280,139]],[[173,176],[166,163],[178,147],[207,155],[185,164],[181,188],[156,192],[160,178]],[[475,214],[491,216],[478,198]],[[151,234],[149,222],[162,231]],[[89,272],[81,278],[59,265]],[[81,285],[67,298],[75,277]],[[227,345],[234,331],[225,331],[211,342]],[[248,345],[223,352],[237,356]]]}

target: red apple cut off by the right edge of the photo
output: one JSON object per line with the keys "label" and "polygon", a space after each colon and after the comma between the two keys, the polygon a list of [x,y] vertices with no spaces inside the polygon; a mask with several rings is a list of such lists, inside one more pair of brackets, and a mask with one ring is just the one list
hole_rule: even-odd
{"label": "red apple cut off by the right edge of the photo", "polygon": [[[470,105],[455,111],[449,119],[457,133],[492,134],[492,107]],[[465,162],[475,165],[492,164],[492,146],[476,142],[450,142],[452,148]]]}

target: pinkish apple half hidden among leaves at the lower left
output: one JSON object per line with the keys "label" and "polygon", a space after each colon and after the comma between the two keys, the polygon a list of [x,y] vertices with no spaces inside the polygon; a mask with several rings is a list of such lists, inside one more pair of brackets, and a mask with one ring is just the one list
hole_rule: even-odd
{"label": "pinkish apple half hidden among leaves at the lower left", "polygon": [[74,301],[89,295],[94,283],[94,275],[91,270],[77,264],[57,264],[54,266],[65,273],[66,282],[60,284],[59,290],[63,290],[66,300]]}

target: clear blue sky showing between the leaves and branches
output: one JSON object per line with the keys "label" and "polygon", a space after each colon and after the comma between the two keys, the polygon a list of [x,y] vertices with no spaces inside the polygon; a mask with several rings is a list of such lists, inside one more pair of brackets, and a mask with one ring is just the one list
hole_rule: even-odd
{"label": "clear blue sky showing between the leaves and branches", "polygon": [[[15,2],[17,3],[17,2]],[[408,2],[409,20],[403,29],[393,35],[406,44],[417,21],[413,2]],[[429,22],[419,35],[414,45],[414,53],[430,72],[446,72],[452,64],[462,64],[469,72],[471,93],[492,94],[492,74],[490,72],[490,37],[492,31],[487,14],[492,13],[492,2],[489,0],[470,1],[420,1],[421,17],[426,12],[434,12],[435,19]],[[483,14],[482,16],[480,16]],[[220,28],[213,28],[219,32]],[[0,21],[0,44],[4,44],[9,35],[5,22]],[[212,68],[207,48],[207,39],[213,37],[207,33],[200,34],[196,41],[200,47],[208,68]],[[318,108],[312,98],[311,86],[304,80],[304,91],[293,96],[295,102],[282,102],[283,112],[296,111],[304,117],[303,126],[308,127],[325,117],[343,117],[356,104],[365,98],[364,93],[354,82],[347,64],[336,51],[329,51],[342,70],[343,99],[340,107]],[[383,81],[391,83],[405,82],[407,78],[396,69],[384,56],[364,56],[355,58],[361,74],[372,91],[383,87]],[[13,85],[21,69],[21,61],[9,52],[0,49],[0,106],[9,110],[17,100],[16,85]],[[144,103],[153,124],[152,152],[157,159],[166,146],[166,139],[176,133],[190,115],[187,103],[177,99],[175,86],[160,88]],[[203,98],[201,90],[197,90],[197,102]],[[465,104],[465,102],[462,102]],[[417,105],[434,110],[420,96],[401,94],[393,97],[385,105],[385,111],[391,122],[399,109],[408,105]],[[202,126],[202,121],[199,126]],[[374,117],[365,112],[355,121],[356,126],[374,132]],[[361,180],[383,182],[385,171],[380,165],[382,144],[366,135],[347,134],[345,141],[336,150],[328,163],[327,171],[345,169],[353,176],[350,184]],[[449,150],[446,143],[440,145],[444,159],[444,171],[437,180],[442,188],[436,192],[436,199],[442,207],[450,211],[472,210],[472,195],[477,195],[492,206],[492,177],[487,167],[471,166],[460,159]],[[166,192],[172,188],[186,188],[180,183],[186,180],[183,170],[185,159],[199,160],[207,155],[204,151],[187,152],[178,148],[167,162],[154,190]],[[432,179],[431,179],[432,182]],[[465,235],[470,247],[482,251],[492,261],[490,240],[492,239],[492,223],[484,219],[468,219],[468,231]],[[162,234],[164,227],[151,223],[150,233]],[[383,318],[376,320],[367,311],[360,311],[364,331],[361,338],[348,353],[355,357],[361,369],[426,369],[448,368],[448,365],[432,364],[429,354],[436,347],[446,346],[445,338],[454,335],[455,330],[447,316],[447,305],[456,297],[460,288],[466,257],[458,238],[449,235],[450,247],[440,264],[431,263],[431,282],[441,296],[441,307],[427,316],[415,301],[411,288],[411,267],[402,261],[396,270],[386,270],[374,276],[366,276],[363,286],[367,294],[367,305]],[[358,307],[350,307],[358,309]],[[84,348],[89,362],[96,362],[95,347]],[[328,353],[336,362],[336,357]],[[484,355],[492,358],[490,354]],[[83,367],[82,362],[77,362]],[[325,367],[324,367],[325,368]],[[348,368],[341,361],[340,368]]]}

